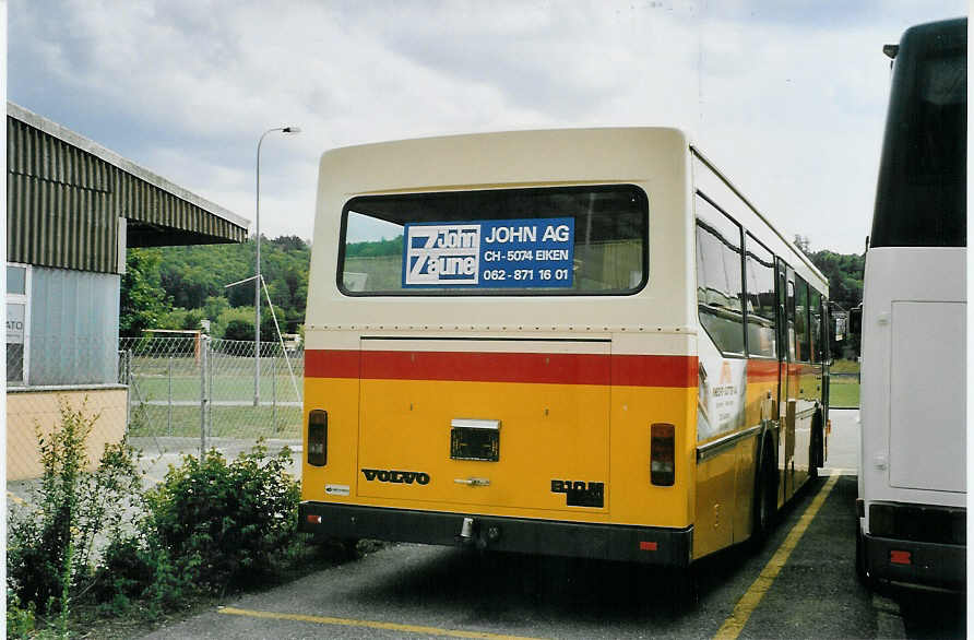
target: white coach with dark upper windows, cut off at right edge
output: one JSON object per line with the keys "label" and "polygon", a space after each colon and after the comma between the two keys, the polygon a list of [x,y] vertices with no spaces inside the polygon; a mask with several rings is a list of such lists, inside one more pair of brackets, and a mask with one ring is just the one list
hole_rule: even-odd
{"label": "white coach with dark upper windows, cut off at right edge", "polygon": [[966,558],[967,21],[893,58],[862,316],[856,568],[961,589]]}

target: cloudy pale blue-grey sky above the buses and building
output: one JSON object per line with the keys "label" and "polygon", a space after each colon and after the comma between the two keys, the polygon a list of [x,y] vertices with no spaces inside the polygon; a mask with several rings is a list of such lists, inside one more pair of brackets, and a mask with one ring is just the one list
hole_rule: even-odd
{"label": "cloudy pale blue-grey sky above the buses and building", "polygon": [[[516,129],[677,126],[786,234],[862,253],[890,61],[964,0],[11,0],[8,99],[310,239],[318,158]],[[251,226],[252,230],[252,226]]]}

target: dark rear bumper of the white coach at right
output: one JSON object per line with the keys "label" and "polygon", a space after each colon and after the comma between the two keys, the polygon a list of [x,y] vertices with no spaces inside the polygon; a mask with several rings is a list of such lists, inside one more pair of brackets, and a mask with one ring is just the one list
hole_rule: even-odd
{"label": "dark rear bumper of the white coach at right", "polygon": [[[965,591],[967,547],[865,535],[872,578],[901,584]],[[903,564],[908,554],[908,564]],[[893,558],[900,562],[892,561]]]}

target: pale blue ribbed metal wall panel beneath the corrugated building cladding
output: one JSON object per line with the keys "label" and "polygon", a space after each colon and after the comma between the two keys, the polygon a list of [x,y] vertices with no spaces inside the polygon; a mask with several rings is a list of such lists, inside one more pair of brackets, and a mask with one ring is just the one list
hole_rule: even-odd
{"label": "pale blue ribbed metal wall panel beneath the corrugated building cladding", "polygon": [[119,277],[32,270],[28,386],[118,381]]}

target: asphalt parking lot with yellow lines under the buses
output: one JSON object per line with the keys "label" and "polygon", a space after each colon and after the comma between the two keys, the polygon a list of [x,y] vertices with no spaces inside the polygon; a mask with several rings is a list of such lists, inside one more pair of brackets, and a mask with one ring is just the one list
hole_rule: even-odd
{"label": "asphalt parking lot with yellow lines under the buses", "polygon": [[149,637],[962,638],[963,597],[856,580],[856,417],[833,412],[823,477],[762,546],[696,566],[696,602],[674,576],[625,564],[401,544]]}

